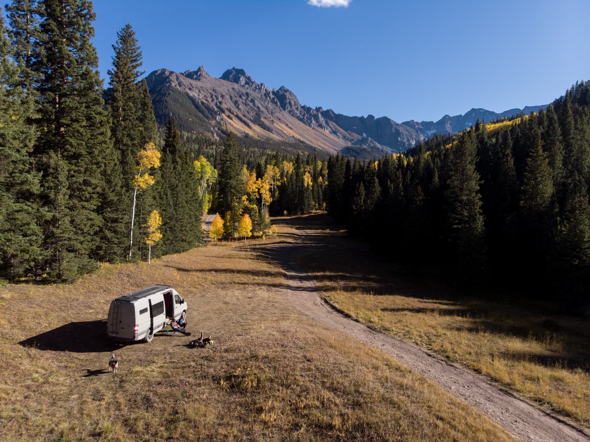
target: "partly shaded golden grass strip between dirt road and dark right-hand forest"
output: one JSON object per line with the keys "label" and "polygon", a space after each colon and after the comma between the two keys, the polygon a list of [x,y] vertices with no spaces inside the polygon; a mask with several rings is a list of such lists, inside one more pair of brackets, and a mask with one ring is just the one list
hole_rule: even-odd
{"label": "partly shaded golden grass strip between dirt road and dark right-hand forest", "polygon": [[588,317],[568,316],[558,302],[520,302],[497,293],[457,296],[432,283],[410,283],[327,218],[291,224],[297,223],[329,244],[327,250],[301,248],[298,261],[338,309],[590,428]]}

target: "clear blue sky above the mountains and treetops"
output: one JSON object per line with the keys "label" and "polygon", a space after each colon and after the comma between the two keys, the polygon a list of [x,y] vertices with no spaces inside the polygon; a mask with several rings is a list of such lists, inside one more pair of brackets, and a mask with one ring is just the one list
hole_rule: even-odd
{"label": "clear blue sky above the mountains and treetops", "polygon": [[94,9],[103,77],[129,22],[147,73],[202,65],[219,77],[235,66],[301,104],[397,122],[546,104],[590,78],[587,0],[95,0]]}

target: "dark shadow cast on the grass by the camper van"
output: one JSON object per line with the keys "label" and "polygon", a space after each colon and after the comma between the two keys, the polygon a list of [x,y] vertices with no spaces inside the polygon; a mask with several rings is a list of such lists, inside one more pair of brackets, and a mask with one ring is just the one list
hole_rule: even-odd
{"label": "dark shadow cast on the grass by the camper van", "polygon": [[73,353],[113,352],[119,345],[107,338],[106,320],[70,322],[19,342],[24,347]]}

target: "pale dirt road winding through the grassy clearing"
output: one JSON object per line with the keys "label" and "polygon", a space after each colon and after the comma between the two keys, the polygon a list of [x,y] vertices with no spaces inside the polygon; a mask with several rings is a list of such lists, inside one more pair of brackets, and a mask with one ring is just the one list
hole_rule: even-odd
{"label": "pale dirt road winding through the grassy clearing", "polygon": [[294,262],[297,248],[322,248],[321,235],[300,231],[294,243],[283,243],[264,250],[287,274],[290,299],[301,312],[323,324],[350,333],[369,345],[382,349],[398,361],[424,374],[461,400],[473,405],[515,436],[526,441],[589,441],[590,437],[534,405],[503,391],[483,376],[448,364],[428,351],[393,336],[375,332],[329,306],[309,274]]}

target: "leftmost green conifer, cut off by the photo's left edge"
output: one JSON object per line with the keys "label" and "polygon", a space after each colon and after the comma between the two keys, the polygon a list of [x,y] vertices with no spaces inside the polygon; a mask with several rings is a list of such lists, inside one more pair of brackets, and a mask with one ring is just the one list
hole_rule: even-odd
{"label": "leftmost green conifer, cut off by the photo's left edge", "polygon": [[0,277],[14,279],[34,270],[40,259],[42,212],[40,174],[30,157],[37,136],[28,124],[34,103],[21,87],[21,68],[11,57],[0,14]]}

